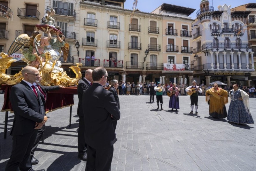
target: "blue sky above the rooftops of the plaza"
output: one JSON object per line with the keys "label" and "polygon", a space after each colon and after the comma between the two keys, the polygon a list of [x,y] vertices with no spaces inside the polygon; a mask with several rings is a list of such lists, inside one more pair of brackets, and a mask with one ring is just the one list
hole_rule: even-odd
{"label": "blue sky above the rooftops of the plaza", "polygon": [[[132,10],[132,5],[133,5],[134,0],[126,0],[124,3],[124,8]],[[196,9],[190,17],[192,19],[196,18],[196,12],[199,10],[199,5],[200,5],[201,0],[138,0],[137,3],[137,9],[142,11],[142,12],[152,12],[156,8],[158,8],[160,5],[163,3],[168,3],[168,4],[173,4],[173,5],[178,5],[178,6],[183,6],[183,7],[188,7],[188,8],[193,8]],[[243,5],[246,3],[255,3],[255,0],[209,0],[210,6],[214,7],[214,10],[218,10],[217,6],[227,4],[231,5],[231,8],[237,7],[239,5]]]}

